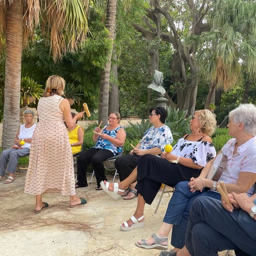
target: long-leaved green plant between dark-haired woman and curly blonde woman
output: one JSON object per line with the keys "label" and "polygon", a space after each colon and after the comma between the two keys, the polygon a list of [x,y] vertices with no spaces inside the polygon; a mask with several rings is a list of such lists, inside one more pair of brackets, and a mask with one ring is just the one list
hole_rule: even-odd
{"label": "long-leaved green plant between dark-haired woman and curly blonde woman", "polygon": [[190,120],[192,116],[186,118],[188,111],[184,109],[172,109],[167,106],[167,117],[165,124],[171,129],[174,139],[178,139],[186,133],[190,133]]}

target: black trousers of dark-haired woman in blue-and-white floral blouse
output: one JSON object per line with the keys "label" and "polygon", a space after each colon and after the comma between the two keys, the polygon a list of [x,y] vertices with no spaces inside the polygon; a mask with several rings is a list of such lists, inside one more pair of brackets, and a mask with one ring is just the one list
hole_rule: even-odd
{"label": "black trousers of dark-haired woman in blue-and-white floral blouse", "polygon": [[[120,181],[125,180],[137,166],[137,159],[141,157],[136,154],[125,155],[115,160],[115,167],[119,174]],[[134,181],[135,182],[135,181]]]}

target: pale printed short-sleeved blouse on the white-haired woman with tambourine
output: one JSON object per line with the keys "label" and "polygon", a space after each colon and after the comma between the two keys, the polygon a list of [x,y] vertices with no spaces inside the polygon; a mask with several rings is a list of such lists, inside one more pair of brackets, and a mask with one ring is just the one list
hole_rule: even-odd
{"label": "pale printed short-sleeved blouse on the white-haired woman with tambourine", "polygon": [[[219,181],[236,184],[240,172],[256,173],[256,137],[254,136],[241,146],[237,147],[236,154],[234,148],[236,139],[230,139],[222,148],[222,153],[228,157],[226,169],[220,176]],[[253,194],[255,184],[247,191]]]}

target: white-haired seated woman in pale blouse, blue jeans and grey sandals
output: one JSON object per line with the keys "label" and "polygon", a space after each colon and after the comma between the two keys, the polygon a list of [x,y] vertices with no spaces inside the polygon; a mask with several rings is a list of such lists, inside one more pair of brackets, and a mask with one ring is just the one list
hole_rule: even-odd
{"label": "white-haired seated woman in pale blouse, blue jeans and grey sandals", "polygon": [[170,199],[163,223],[154,237],[146,241],[137,241],[138,247],[145,249],[167,249],[168,234],[172,230],[171,244],[182,248],[185,241],[189,210],[199,196],[221,200],[216,191],[220,181],[226,185],[228,192],[252,194],[256,182],[256,107],[253,104],[242,104],[229,113],[227,125],[229,135],[233,136],[218,153],[228,157],[226,169],[218,182],[206,179],[214,161],[211,160],[201,171],[198,178],[190,182],[180,182]]}

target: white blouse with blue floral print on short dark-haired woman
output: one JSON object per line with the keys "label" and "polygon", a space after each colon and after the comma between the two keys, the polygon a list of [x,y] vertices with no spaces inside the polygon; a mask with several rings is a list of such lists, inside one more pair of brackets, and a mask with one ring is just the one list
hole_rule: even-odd
{"label": "white blouse with blue floral print on short dark-haired woman", "polygon": [[158,147],[164,151],[165,145],[171,144],[172,141],[172,133],[167,125],[163,125],[158,128],[151,126],[147,131],[145,131],[141,141],[139,142],[141,143],[139,149],[146,150]]}

